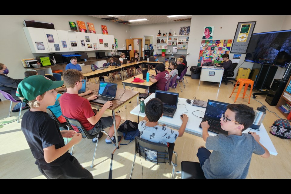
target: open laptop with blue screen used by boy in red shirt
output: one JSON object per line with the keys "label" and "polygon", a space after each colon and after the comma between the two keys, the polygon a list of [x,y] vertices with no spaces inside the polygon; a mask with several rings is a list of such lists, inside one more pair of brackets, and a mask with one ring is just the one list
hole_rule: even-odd
{"label": "open laptop with blue screen used by boy in red shirt", "polygon": [[93,100],[100,104],[105,104],[107,101],[113,100],[116,95],[117,84],[110,82],[100,82],[98,89],[98,98]]}

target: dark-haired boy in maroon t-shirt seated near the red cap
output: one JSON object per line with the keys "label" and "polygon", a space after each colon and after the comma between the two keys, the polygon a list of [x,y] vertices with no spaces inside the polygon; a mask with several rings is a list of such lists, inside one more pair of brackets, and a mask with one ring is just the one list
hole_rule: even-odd
{"label": "dark-haired boy in maroon t-shirt seated near the red cap", "polygon": [[[170,80],[169,72],[165,70],[165,66],[162,63],[159,63],[156,66],[156,70],[158,75],[156,75],[154,78],[149,78],[151,82],[155,83],[149,87],[149,95],[151,95],[153,92],[156,92],[156,89],[164,91],[166,84]],[[146,89],[146,93],[148,93],[148,89]]]}

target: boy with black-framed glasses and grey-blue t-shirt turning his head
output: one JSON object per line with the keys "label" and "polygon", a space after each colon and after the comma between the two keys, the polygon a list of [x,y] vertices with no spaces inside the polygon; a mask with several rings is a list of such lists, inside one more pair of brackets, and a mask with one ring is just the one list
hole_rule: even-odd
{"label": "boy with black-framed glasses and grey-blue t-shirt turning his head", "polygon": [[208,122],[201,123],[206,148],[200,147],[197,156],[206,178],[245,179],[253,153],[263,158],[270,156],[269,151],[259,142],[259,135],[255,132],[242,133],[253,124],[254,119],[253,108],[244,104],[231,104],[227,105],[220,119],[221,128],[228,135],[210,137]]}

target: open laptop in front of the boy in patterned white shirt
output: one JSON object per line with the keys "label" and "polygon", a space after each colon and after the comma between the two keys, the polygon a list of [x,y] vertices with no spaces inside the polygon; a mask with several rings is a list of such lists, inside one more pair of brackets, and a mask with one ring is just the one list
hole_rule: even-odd
{"label": "open laptop in front of the boy in patterned white shirt", "polygon": [[179,93],[156,90],[155,97],[163,102],[164,105],[163,115],[173,118],[177,110]]}

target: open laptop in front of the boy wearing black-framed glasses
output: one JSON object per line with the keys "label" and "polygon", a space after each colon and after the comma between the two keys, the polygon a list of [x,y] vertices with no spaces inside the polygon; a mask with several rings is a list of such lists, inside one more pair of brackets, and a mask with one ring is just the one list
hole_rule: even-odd
{"label": "open laptop in front of the boy wearing black-framed glasses", "polygon": [[[226,111],[227,105],[229,105],[229,103],[208,100],[205,115],[201,121],[208,121],[208,124],[210,125],[208,131],[228,135],[228,132],[222,130],[220,125],[221,115]],[[202,128],[201,123],[199,127]]]}

